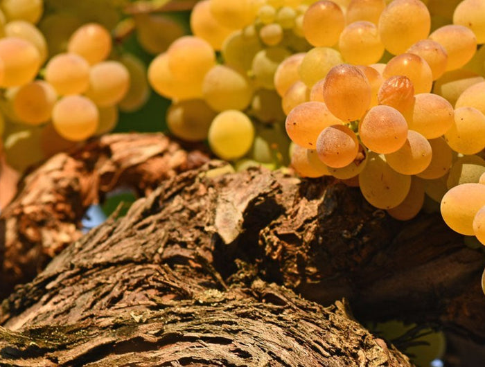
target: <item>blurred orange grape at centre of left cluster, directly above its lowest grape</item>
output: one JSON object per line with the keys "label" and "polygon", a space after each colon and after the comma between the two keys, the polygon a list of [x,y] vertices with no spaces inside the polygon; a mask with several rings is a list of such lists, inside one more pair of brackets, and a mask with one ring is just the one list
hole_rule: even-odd
{"label": "blurred orange grape at centre of left cluster, directly above its lowest grape", "polygon": [[89,64],[76,53],[60,53],[46,64],[45,80],[61,96],[84,93],[89,88]]}

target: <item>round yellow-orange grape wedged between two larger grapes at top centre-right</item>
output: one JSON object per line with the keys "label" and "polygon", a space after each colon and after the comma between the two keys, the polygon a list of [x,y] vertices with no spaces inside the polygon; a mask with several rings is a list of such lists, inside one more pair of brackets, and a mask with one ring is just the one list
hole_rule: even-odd
{"label": "round yellow-orange grape wedged between two larger grapes at top centre-right", "polygon": [[369,65],[378,62],[384,54],[384,45],[376,24],[355,21],[347,25],[339,39],[339,51],[345,62]]}

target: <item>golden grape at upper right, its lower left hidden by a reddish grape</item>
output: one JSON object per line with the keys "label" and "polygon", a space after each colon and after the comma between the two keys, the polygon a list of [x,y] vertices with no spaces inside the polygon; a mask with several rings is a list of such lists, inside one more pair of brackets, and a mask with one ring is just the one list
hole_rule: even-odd
{"label": "golden grape at upper right, its lower left hidden by a reddish grape", "polygon": [[461,68],[477,51],[475,34],[464,26],[442,26],[430,34],[430,39],[441,44],[448,53],[446,71]]}

